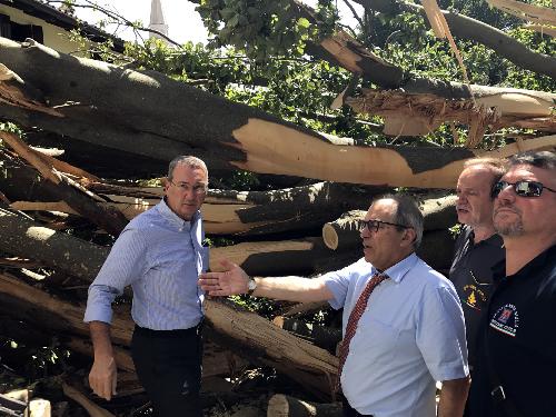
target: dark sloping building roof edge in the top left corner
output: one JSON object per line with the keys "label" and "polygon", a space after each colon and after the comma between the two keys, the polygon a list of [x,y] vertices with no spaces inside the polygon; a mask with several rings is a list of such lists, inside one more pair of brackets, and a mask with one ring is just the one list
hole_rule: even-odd
{"label": "dark sloping building roof edge in the top left corner", "polygon": [[113,50],[123,52],[123,40],[105,32],[103,30],[89,24],[82,20],[67,14],[49,4],[37,0],[0,0],[0,4],[21,10],[26,14],[44,20],[47,23],[54,24],[66,30],[77,29],[87,39],[93,42],[103,42],[111,39],[113,42]]}

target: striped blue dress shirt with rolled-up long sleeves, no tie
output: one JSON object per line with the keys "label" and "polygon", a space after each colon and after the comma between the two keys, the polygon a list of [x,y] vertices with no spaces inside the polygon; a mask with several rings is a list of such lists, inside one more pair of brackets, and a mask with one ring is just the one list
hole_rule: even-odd
{"label": "striped blue dress shirt with rolled-up long sleeves, no tie", "polygon": [[197,285],[208,268],[200,212],[191,221],[160,201],[131,220],[89,287],[85,321],[112,319],[111,304],[131,285],[135,322],[152,330],[188,329],[203,316]]}

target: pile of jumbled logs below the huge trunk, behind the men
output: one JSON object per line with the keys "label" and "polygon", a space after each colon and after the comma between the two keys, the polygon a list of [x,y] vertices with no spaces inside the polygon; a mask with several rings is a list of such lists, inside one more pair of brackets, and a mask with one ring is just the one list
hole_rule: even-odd
{"label": "pile of jumbled logs below the huge trunk, behind the men", "polygon": [[[112,241],[110,235],[156,205],[163,190],[102,181],[16,135],[0,132],[0,138],[7,145],[0,148],[0,314],[11,317],[2,319],[0,334],[24,338],[28,331],[19,325],[24,322],[37,332],[57,335],[71,351],[91,356],[82,322],[87,287],[110,250],[92,241]],[[385,191],[334,182],[274,191],[210,190],[201,209],[208,237],[237,241],[211,247],[210,269],[218,270],[224,258],[258,276],[315,276],[344,267],[361,256],[357,220],[373,196]],[[420,255],[445,271],[455,198],[438,193],[419,199],[426,229]],[[207,300],[205,378],[238,375],[249,364],[271,366],[301,383],[314,398],[332,400],[338,360],[318,345],[334,347],[338,329],[325,331],[336,339],[322,344],[315,328],[306,335],[285,330],[291,314],[309,308],[294,306],[271,322],[230,300]],[[112,339],[122,387],[135,378],[128,350],[132,328],[129,304],[117,306]],[[73,396],[98,407],[82,393]],[[269,416],[318,413],[338,415],[339,408],[287,396],[275,396],[268,405]]]}

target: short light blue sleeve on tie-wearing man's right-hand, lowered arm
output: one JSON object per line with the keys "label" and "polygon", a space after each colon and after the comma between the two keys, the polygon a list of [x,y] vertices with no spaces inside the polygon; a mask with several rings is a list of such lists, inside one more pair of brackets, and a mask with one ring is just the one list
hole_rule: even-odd
{"label": "short light blue sleeve on tie-wearing man's right-hand, lowered arm", "polygon": [[417,346],[435,380],[469,375],[465,320],[456,291],[431,288],[424,297],[417,317]]}

